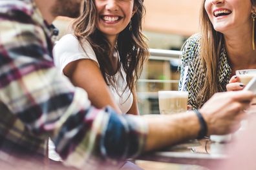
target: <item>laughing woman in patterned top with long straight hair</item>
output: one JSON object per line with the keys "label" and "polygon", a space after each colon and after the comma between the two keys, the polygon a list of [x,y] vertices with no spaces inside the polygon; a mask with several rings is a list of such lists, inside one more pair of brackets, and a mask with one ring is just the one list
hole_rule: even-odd
{"label": "laughing woman in patterned top with long straight hair", "polygon": [[256,0],[202,1],[202,32],[182,47],[180,90],[185,79],[194,109],[216,92],[242,88],[228,84],[235,70],[256,68],[255,5]]}

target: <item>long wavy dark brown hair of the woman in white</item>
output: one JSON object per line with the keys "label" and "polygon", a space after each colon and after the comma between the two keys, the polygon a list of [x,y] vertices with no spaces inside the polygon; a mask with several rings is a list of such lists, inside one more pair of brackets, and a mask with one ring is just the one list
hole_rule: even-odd
{"label": "long wavy dark brown hair of the woman in white", "polygon": [[[143,0],[134,0],[134,9],[136,12],[131,18],[132,29],[127,27],[119,33],[116,42],[116,49],[120,55],[120,62],[118,69],[123,67],[126,73],[127,86],[131,91],[134,89],[144,62],[149,57],[149,48],[145,42],[146,38],[142,33],[142,18],[145,15],[145,6]],[[96,6],[93,0],[86,0],[84,3],[83,14],[78,17],[72,24],[74,35],[80,41],[87,39],[90,42],[92,49],[96,53],[96,57],[100,64],[100,70],[108,85],[116,87],[114,79],[108,76],[113,74],[111,59],[109,58],[111,51],[111,44],[105,38],[103,33],[98,30],[97,24],[98,16]]]}

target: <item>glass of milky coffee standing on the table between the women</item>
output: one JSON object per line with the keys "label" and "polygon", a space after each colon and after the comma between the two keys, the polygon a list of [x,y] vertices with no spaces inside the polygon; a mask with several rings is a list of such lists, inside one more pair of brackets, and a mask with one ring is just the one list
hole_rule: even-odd
{"label": "glass of milky coffee standing on the table between the women", "polygon": [[187,91],[158,91],[159,110],[169,115],[187,111]]}

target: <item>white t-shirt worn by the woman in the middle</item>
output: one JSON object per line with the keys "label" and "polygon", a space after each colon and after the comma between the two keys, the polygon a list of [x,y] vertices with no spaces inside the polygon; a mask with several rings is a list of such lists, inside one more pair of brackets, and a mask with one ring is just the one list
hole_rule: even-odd
{"label": "white t-shirt worn by the woman in the middle", "polygon": [[[84,48],[84,50],[83,50]],[[83,48],[81,48],[78,39],[72,35],[68,34],[63,36],[54,46],[54,62],[58,68],[60,68],[61,73],[63,74],[63,69],[67,64],[72,61],[77,61],[79,59],[91,59],[95,61],[100,67],[96,54],[92,50],[92,46],[88,41],[83,41]],[[119,55],[116,54],[116,57]],[[122,113],[127,113],[133,104],[133,94],[127,88],[124,92],[127,82],[125,80],[126,74],[124,73],[122,66],[115,75],[111,76],[112,79],[116,79],[116,88],[117,90],[109,86],[109,90],[112,93],[114,101],[121,109]]]}

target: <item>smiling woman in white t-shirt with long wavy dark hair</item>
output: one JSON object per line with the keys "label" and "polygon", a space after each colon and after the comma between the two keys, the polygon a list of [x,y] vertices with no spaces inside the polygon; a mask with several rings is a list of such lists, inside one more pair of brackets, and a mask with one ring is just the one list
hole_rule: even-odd
{"label": "smiling woman in white t-shirt with long wavy dark hair", "polygon": [[56,44],[56,65],[96,108],[139,114],[135,84],[149,56],[144,12],[143,0],[86,0],[74,33]]}

